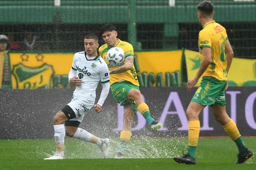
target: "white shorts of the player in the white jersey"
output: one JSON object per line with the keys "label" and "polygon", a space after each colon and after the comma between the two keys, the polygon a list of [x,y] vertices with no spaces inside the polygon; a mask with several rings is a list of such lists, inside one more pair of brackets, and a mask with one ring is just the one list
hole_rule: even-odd
{"label": "white shorts of the player in the white jersey", "polygon": [[70,121],[78,121],[82,122],[84,114],[90,109],[93,108],[95,103],[95,98],[88,99],[80,99],[80,98],[72,98],[71,102],[68,103],[70,108],[75,112],[76,117],[70,119]]}

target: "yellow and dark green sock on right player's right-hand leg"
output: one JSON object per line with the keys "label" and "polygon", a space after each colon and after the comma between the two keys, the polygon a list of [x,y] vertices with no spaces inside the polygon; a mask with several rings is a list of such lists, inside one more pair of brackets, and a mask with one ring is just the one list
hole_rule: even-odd
{"label": "yellow and dark green sock on right player's right-hand leg", "polygon": [[230,122],[223,125],[223,128],[227,132],[227,134],[231,137],[231,139],[236,143],[236,146],[239,150],[239,153],[245,153],[246,146],[245,143],[243,143],[242,137],[240,135],[239,130],[237,129],[237,126],[235,122],[231,119]]}

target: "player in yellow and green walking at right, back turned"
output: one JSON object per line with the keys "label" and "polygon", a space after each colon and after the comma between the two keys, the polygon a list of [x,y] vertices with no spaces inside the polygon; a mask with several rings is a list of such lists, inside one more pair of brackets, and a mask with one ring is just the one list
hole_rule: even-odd
{"label": "player in yellow and green walking at right, back turned", "polygon": [[187,91],[202,82],[188,105],[188,148],[187,154],[173,159],[179,163],[196,164],[196,147],[199,138],[199,114],[206,105],[210,105],[214,117],[220,123],[239,150],[236,163],[244,163],[253,153],[246,148],[235,122],[225,109],[225,92],[228,83],[228,71],[233,59],[233,50],[224,27],[213,20],[214,5],[210,1],[200,2],[197,6],[199,23],[203,29],[199,32],[198,47],[201,65],[194,78],[188,80]]}

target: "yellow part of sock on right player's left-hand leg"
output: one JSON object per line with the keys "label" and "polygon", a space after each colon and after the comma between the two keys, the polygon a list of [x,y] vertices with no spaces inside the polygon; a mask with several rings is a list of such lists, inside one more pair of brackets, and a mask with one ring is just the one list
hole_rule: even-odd
{"label": "yellow part of sock on right player's left-hand leg", "polygon": [[197,146],[200,133],[200,121],[188,121],[188,146]]}

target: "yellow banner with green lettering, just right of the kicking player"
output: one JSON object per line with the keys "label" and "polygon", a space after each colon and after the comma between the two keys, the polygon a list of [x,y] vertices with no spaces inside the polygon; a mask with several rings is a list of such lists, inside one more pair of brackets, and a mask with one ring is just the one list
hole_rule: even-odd
{"label": "yellow banner with green lettering, just right of the kicking player", "polygon": [[[139,83],[148,86],[180,86],[182,50],[135,52]],[[136,65],[136,63],[135,63]]]}

